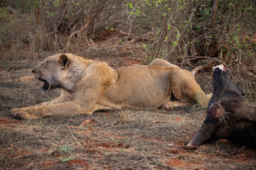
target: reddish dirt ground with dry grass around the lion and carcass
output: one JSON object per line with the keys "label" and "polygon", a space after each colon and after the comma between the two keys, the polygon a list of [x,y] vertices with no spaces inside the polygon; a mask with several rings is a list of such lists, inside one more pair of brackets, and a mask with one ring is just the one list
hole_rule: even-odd
{"label": "reddish dirt ground with dry grass around the lion and carcass", "polygon": [[[101,48],[80,55],[106,61],[112,67],[144,64],[144,58],[130,48],[119,51]],[[31,73],[48,55],[0,62],[0,169],[255,169],[256,151],[227,140],[183,149],[203,123],[206,107],[14,119],[11,108],[59,95],[55,90],[43,96],[41,82]],[[210,93],[211,73],[196,74],[196,79]]]}

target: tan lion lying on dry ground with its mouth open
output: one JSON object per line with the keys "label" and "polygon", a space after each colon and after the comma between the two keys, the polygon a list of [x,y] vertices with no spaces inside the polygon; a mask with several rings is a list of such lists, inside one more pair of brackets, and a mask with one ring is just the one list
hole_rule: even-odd
{"label": "tan lion lying on dry ground with its mouth open", "polygon": [[36,106],[12,109],[16,118],[90,114],[112,108],[171,109],[196,101],[198,94],[205,96],[191,72],[164,60],[112,69],[106,62],[68,53],[46,58],[32,72],[44,82],[43,93],[60,88],[61,94]]}

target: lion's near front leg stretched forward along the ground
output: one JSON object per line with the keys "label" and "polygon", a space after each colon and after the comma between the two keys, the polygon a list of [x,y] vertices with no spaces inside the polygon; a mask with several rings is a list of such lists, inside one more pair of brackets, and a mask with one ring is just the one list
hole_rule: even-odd
{"label": "lion's near front leg stretched forward along the ground", "polygon": [[[95,85],[96,86],[96,85]],[[98,85],[97,91],[93,91],[95,86],[87,88],[85,91],[77,91],[72,101],[54,103],[41,106],[30,106],[27,108],[14,108],[11,113],[15,118],[33,119],[43,118],[48,115],[72,115],[72,114],[90,114],[99,109],[97,101],[102,95],[105,87]]]}

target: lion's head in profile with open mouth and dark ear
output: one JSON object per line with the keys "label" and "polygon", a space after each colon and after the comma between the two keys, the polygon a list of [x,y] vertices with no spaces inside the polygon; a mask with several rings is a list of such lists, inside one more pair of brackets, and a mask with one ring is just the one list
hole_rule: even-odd
{"label": "lion's head in profile with open mouth and dark ear", "polygon": [[47,94],[50,89],[65,88],[65,75],[68,72],[70,58],[67,55],[53,55],[40,62],[32,69],[34,77],[43,81],[42,91]]}

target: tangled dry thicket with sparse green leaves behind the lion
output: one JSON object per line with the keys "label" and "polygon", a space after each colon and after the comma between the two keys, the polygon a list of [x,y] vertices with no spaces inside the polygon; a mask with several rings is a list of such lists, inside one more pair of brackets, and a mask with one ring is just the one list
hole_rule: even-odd
{"label": "tangled dry thicket with sparse green leaves behind the lion", "polygon": [[13,55],[23,47],[32,53],[70,52],[70,44],[87,45],[102,31],[121,30],[127,38],[142,37],[146,62],[241,61],[255,55],[255,9],[253,0],[4,1],[0,45],[15,50]]}

